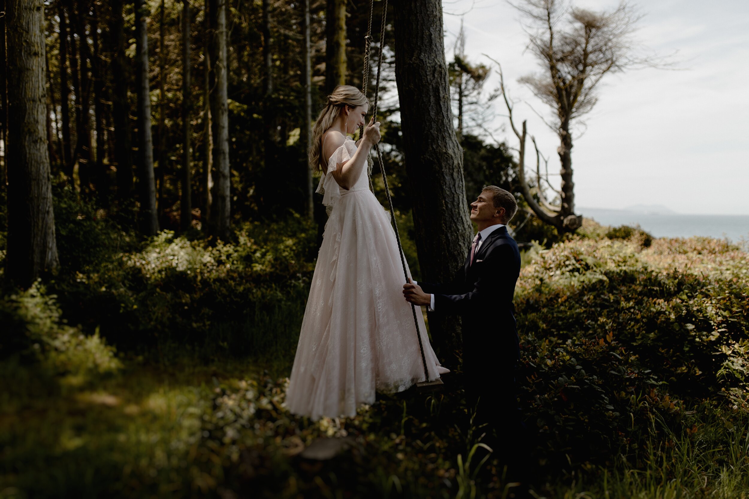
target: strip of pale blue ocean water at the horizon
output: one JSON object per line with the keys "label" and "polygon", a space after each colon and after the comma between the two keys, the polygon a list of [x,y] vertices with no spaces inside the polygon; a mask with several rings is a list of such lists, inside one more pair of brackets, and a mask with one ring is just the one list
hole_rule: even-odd
{"label": "strip of pale blue ocean water at the horizon", "polygon": [[708,236],[733,242],[749,240],[749,215],[677,215],[628,212],[617,209],[580,208],[599,224],[637,225],[655,237]]}

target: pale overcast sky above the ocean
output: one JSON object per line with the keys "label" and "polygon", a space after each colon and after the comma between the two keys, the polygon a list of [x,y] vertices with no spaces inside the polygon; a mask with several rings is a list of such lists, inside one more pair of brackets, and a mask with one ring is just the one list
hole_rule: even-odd
{"label": "pale overcast sky above the ocean", "polygon": [[[618,1],[575,4],[602,10]],[[677,69],[604,78],[572,149],[576,205],[749,215],[749,1],[649,0],[635,6],[644,14],[637,39],[650,52],[671,55]],[[467,58],[491,64],[485,53],[500,61],[510,97],[518,101],[516,123],[527,120],[529,135],[550,157],[550,173],[557,173],[551,181],[558,183],[558,139],[533,109],[545,117],[551,111],[518,83],[539,70],[525,50],[520,13],[505,0],[443,0],[443,12],[448,60],[462,18]],[[485,89],[498,81],[493,75]],[[494,106],[491,129],[507,123],[503,102]],[[509,126],[493,135],[518,145]],[[535,167],[533,156],[527,163]]]}

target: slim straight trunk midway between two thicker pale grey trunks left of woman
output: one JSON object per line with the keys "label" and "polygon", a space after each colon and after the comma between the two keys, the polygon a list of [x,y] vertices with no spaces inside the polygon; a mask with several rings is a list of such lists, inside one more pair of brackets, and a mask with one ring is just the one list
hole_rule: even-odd
{"label": "slim straight trunk midway between two thicker pale grey trunks left of woman", "polygon": [[180,198],[180,226],[189,230],[192,226],[192,177],[190,174],[190,142],[192,128],[190,111],[190,14],[189,0],[182,0],[182,192]]}

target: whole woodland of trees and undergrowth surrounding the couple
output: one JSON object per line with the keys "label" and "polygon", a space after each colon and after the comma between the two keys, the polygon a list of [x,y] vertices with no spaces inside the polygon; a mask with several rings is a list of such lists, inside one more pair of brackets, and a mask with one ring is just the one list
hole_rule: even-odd
{"label": "whole woodland of trees and undergrowth surrounding the couple", "polygon": [[[566,15],[554,5],[524,12]],[[626,64],[592,51],[575,73],[577,55],[534,52],[569,75],[571,97],[555,100],[554,76],[544,100],[557,190],[504,80],[485,88],[499,63],[468,60],[463,31],[446,50],[442,9],[0,0],[0,498],[749,494],[747,248],[583,218],[570,129]],[[601,19],[573,18],[583,34]],[[461,265],[482,186],[518,200],[530,484],[482,443],[460,323],[432,311],[453,371],[439,391],[378,396],[353,418],[285,408],[327,222],[307,151],[336,85],[377,91],[371,189],[415,278]],[[517,144],[481,126],[490,104]],[[306,457],[324,438],[341,452]]]}

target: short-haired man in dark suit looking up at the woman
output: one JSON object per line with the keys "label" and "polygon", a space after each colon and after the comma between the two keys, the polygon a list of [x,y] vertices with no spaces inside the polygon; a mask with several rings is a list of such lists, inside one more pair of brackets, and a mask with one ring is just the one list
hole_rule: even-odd
{"label": "short-haired man in dark suit looking up at the woman", "polygon": [[[520,273],[520,253],[506,224],[518,211],[515,197],[485,186],[470,204],[479,233],[464,265],[449,284],[404,284],[407,301],[463,318],[463,370],[474,423],[488,423],[495,456],[512,456],[520,433],[515,364],[520,355],[512,296]],[[491,438],[491,431],[497,438]]]}

